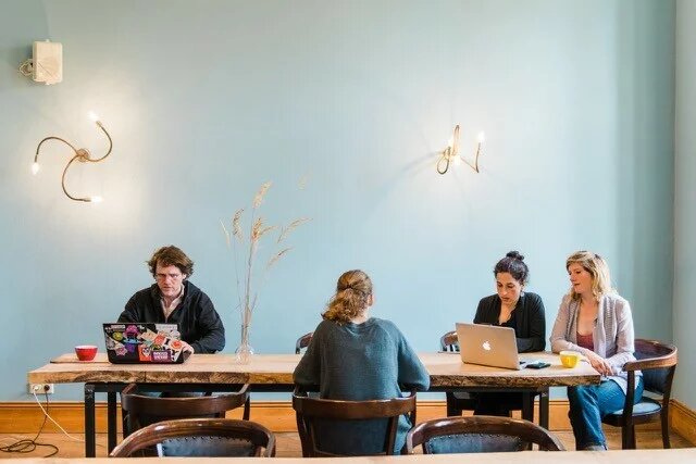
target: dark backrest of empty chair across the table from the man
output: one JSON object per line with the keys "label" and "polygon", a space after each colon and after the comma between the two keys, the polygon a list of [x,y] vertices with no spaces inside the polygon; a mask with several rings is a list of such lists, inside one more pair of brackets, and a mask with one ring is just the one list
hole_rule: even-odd
{"label": "dark backrest of empty chair across the table from the man", "polygon": [[126,413],[127,432],[160,421],[174,418],[224,418],[225,412],[239,406],[248,406],[249,385],[244,385],[235,393],[207,397],[160,398],[138,394],[138,386],[130,384],[121,392],[121,407]]}

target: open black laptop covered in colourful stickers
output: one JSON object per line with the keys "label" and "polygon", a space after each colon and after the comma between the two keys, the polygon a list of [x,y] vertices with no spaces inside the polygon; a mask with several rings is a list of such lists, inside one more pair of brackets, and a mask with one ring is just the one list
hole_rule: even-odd
{"label": "open black laptop covered in colourful stickers", "polygon": [[110,363],[181,364],[189,354],[176,324],[108,323],[103,330]]}

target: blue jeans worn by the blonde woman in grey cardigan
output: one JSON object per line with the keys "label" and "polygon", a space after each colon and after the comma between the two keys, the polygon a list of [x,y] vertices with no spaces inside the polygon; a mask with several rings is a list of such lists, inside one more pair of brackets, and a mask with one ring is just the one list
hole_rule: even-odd
{"label": "blue jeans worn by the blonde woman in grey cardigan", "polygon": [[[643,376],[636,376],[634,403],[643,397]],[[599,385],[582,385],[568,387],[570,402],[570,423],[575,435],[575,449],[584,450],[592,446],[607,447],[607,439],[601,430],[601,418],[609,413],[623,409],[626,396],[619,384],[602,380]]]}

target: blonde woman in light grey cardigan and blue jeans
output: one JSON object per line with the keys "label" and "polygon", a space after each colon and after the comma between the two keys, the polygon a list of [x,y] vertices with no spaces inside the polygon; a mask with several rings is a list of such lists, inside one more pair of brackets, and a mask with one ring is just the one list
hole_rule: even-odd
{"label": "blonde woman in light grey cardigan and blue jeans", "polygon": [[[606,450],[601,417],[623,407],[627,374],[634,361],[631,306],[611,288],[609,266],[598,254],[579,251],[566,261],[571,288],[563,297],[551,331],[555,353],[582,353],[601,374],[599,385],[568,387],[570,421],[577,450]],[[643,396],[643,377],[636,373],[635,400]]]}

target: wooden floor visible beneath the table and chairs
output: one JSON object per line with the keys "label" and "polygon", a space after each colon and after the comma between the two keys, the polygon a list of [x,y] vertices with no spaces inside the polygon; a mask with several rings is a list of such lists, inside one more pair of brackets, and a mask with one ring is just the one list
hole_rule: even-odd
{"label": "wooden floor visible beneath the table and chairs", "polygon": [[[621,434],[619,430],[605,430],[607,438],[609,440],[610,449],[620,449],[621,448]],[[573,439],[573,434],[571,431],[556,431],[555,432],[558,438],[563,442],[567,449],[573,450],[575,448],[575,441]],[[299,437],[295,432],[288,434],[277,434],[277,456],[278,457],[297,457],[302,455],[301,446],[299,441]],[[9,435],[9,434],[0,434],[0,447],[4,448],[8,444],[11,444],[20,439],[24,438],[34,438],[34,436],[27,435]],[[75,438],[82,439],[82,436],[76,436]],[[55,457],[80,457],[85,455],[85,446],[82,442],[73,441],[66,436],[62,434],[41,434],[39,439],[37,440],[42,443],[51,443],[59,448],[58,454]],[[672,448],[691,448],[694,444],[686,441],[684,438],[679,435],[671,435]],[[659,431],[641,431],[637,437],[638,448],[639,449],[650,449],[650,448],[662,448],[662,438]],[[107,455],[107,435],[99,434],[97,438],[97,455],[105,456]],[[48,448],[38,448],[37,450],[30,453],[0,453],[0,459],[3,457],[29,457],[29,456],[45,456],[51,452]]]}

